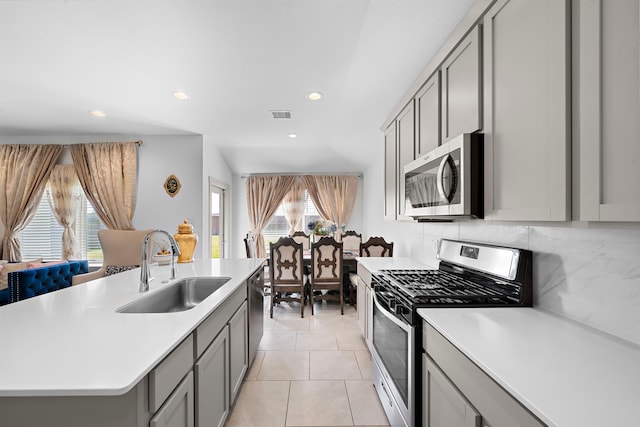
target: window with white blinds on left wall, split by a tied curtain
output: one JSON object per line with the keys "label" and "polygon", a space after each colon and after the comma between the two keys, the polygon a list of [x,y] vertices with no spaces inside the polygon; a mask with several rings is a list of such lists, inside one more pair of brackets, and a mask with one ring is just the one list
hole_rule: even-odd
{"label": "window with white blinds on left wall, split by a tied curtain", "polygon": [[[43,258],[45,261],[62,259],[63,227],[53,216],[47,189],[31,222],[20,232],[22,259]],[[76,212],[74,232],[82,255],[89,264],[102,264],[102,247],[98,240],[98,230],[105,229],[93,206],[82,191],[79,191],[79,206]]]}

